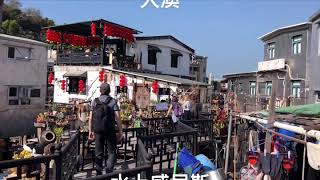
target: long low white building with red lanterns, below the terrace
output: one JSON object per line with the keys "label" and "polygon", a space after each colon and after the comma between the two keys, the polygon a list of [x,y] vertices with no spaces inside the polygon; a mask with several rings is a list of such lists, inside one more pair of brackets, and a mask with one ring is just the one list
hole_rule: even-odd
{"label": "long low white building with red lanterns, below the terrace", "polygon": [[[54,102],[73,103],[73,100],[82,99],[91,101],[100,96],[99,71],[104,69],[106,82],[111,86],[112,97],[120,94],[120,74],[125,75],[127,88],[125,93],[130,100],[134,100],[138,107],[146,107],[152,102],[169,98],[170,94],[179,91],[190,91],[190,87],[197,86],[200,89],[200,102],[205,102],[207,97],[207,84],[182,79],[169,75],[150,74],[141,72],[129,72],[112,69],[111,67],[100,66],[54,66]],[[83,80],[85,88],[83,93],[78,90],[78,81]],[[62,90],[61,82],[66,81],[66,89]],[[157,81],[159,84],[158,94],[152,93],[152,83]]]}

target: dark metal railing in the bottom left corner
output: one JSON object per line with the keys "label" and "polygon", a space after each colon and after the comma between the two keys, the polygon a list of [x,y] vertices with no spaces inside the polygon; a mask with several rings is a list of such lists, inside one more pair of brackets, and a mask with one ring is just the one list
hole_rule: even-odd
{"label": "dark metal railing in the bottom left corner", "polygon": [[[79,134],[73,134],[70,141],[63,147],[56,146],[53,155],[45,155],[27,159],[7,160],[0,162],[0,170],[15,169],[16,176],[7,178],[22,179],[36,178],[67,180],[72,179],[77,170]],[[50,163],[54,162],[54,168],[50,169]]]}

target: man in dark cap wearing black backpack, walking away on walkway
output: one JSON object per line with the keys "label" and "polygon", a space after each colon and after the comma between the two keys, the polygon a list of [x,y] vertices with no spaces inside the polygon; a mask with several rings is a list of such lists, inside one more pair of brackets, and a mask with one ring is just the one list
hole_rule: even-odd
{"label": "man in dark cap wearing black backpack, walking away on walkway", "polygon": [[[109,96],[110,85],[102,83],[100,86],[100,93],[100,97],[95,98],[91,102],[89,118],[89,139],[95,140],[95,163],[97,175],[101,175],[103,171],[102,163],[105,148],[107,148],[108,152],[105,168],[106,173],[113,171],[117,158],[117,141],[121,141],[123,138],[122,125],[119,118],[120,108],[117,101]],[[116,123],[119,129],[118,135],[116,134]]]}

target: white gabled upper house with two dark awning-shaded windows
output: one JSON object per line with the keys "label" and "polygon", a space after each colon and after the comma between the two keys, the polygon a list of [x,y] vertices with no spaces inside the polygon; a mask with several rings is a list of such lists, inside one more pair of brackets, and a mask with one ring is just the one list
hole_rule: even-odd
{"label": "white gabled upper house with two dark awning-shaded windows", "polygon": [[190,77],[194,49],[173,36],[136,37],[136,53],[143,70]]}

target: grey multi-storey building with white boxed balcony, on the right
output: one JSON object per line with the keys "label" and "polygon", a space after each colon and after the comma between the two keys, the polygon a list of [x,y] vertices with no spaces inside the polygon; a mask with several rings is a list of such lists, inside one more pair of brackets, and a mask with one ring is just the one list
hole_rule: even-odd
{"label": "grey multi-storey building with white boxed balcony, on the right", "polygon": [[276,98],[290,105],[306,104],[308,44],[311,23],[301,23],[276,29],[260,39],[264,43],[264,59],[258,64],[258,99],[270,98],[272,82]]}

